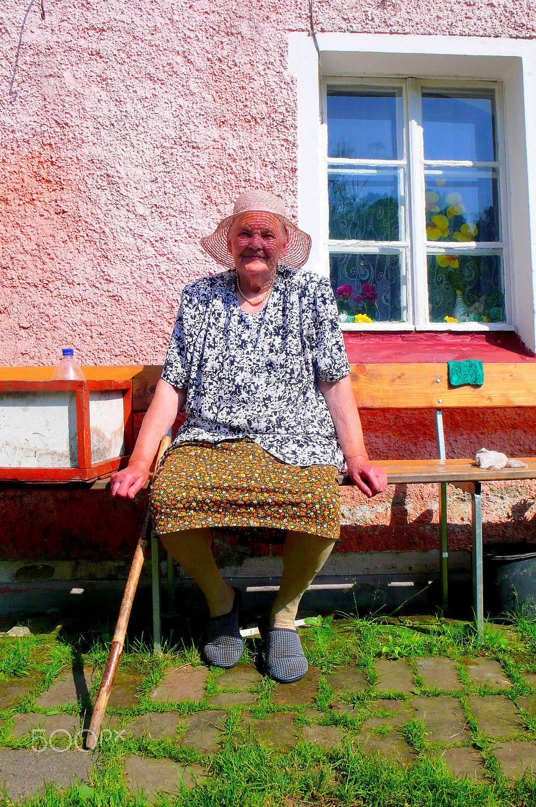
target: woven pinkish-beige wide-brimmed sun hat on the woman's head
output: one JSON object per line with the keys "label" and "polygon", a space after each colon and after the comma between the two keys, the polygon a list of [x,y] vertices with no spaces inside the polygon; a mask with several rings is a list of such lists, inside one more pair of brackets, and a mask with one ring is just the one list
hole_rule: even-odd
{"label": "woven pinkish-beige wide-brimmed sun hat on the woman's head", "polygon": [[292,224],[291,220],[287,219],[285,206],[281,199],[278,199],[274,194],[267,193],[266,190],[246,190],[244,194],[238,197],[232,209],[232,215],[228,215],[227,218],[220,221],[211,236],[201,239],[201,246],[205,252],[222,266],[233,269],[232,255],[229,254],[227,249],[229,229],[238,215],[253,211],[272,213],[277,216],[287,231],[287,252],[283,258],[284,263],[293,269],[299,269],[300,266],[304,266],[311,251],[311,236],[308,236],[307,232],[300,230],[295,224]]}

